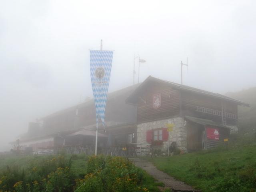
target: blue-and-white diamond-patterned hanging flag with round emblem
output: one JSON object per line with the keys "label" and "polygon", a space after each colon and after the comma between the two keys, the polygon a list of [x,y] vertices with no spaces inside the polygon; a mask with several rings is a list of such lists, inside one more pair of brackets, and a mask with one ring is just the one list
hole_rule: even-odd
{"label": "blue-and-white diamond-patterned hanging flag with round emblem", "polygon": [[96,128],[101,118],[105,130],[105,107],[111,73],[113,51],[90,50],[90,72],[96,108]]}

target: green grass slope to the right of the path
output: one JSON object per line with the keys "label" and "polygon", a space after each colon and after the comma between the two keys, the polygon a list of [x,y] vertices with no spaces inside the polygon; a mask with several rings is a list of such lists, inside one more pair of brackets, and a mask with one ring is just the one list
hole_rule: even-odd
{"label": "green grass slope to the right of the path", "polygon": [[147,160],[202,192],[256,191],[256,145]]}

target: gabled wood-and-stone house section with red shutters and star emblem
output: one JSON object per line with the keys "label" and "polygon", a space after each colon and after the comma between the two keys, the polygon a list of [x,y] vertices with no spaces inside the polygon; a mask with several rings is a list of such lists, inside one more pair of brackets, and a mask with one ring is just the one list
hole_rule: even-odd
{"label": "gabled wood-and-stone house section with red shutters and star emblem", "polygon": [[126,102],[137,107],[137,143],[150,144],[162,152],[172,143],[182,152],[222,144],[230,133],[238,131],[237,106],[248,106],[221,94],[151,76]]}

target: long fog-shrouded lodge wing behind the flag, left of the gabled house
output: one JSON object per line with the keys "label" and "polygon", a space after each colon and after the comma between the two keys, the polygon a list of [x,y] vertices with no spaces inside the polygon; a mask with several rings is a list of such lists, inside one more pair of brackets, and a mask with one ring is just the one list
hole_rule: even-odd
{"label": "long fog-shrouded lodge wing behind the flag, left of the gabled house", "polygon": [[[98,133],[98,151],[105,148],[124,148],[136,142],[136,106],[126,104],[125,99],[138,84],[109,93],[106,102],[106,133],[102,126]],[[94,100],[60,110],[30,122],[28,132],[19,138],[19,146],[36,153],[88,152],[95,150],[96,112]],[[16,142],[10,144],[16,146]]]}

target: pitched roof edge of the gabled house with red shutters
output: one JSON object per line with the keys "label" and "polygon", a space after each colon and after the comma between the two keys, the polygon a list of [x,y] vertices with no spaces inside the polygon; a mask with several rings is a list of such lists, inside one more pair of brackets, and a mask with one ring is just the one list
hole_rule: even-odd
{"label": "pitched roof edge of the gabled house with red shutters", "polygon": [[198,88],[194,88],[194,87],[190,87],[190,86],[186,86],[186,85],[181,85],[178,83],[174,83],[174,82],[170,82],[170,81],[166,81],[166,80],[160,80],[158,78],[154,78],[152,76],[148,76],[148,78],[146,78],[146,80],[144,80],[144,82],[142,84],[140,84],[140,86],[138,86],[138,88],[136,88],[136,90],[126,99],[126,102],[134,104],[136,102],[136,97],[138,97],[138,94],[140,93],[141,88],[147,84],[150,81],[155,81],[155,82],[160,82],[160,83],[166,83],[170,86],[172,86],[173,88],[179,89],[179,90],[184,90],[184,91],[190,91],[190,92],[195,92],[198,94],[203,94],[203,95],[208,95],[214,98],[220,98],[223,100],[228,100],[231,102],[235,102],[239,105],[244,105],[244,106],[249,106],[249,104],[242,102],[240,100],[236,100],[234,98],[222,95],[222,94],[218,94],[218,93],[213,93],[213,92],[209,92],[206,90],[202,90],[202,89],[198,89]]}

